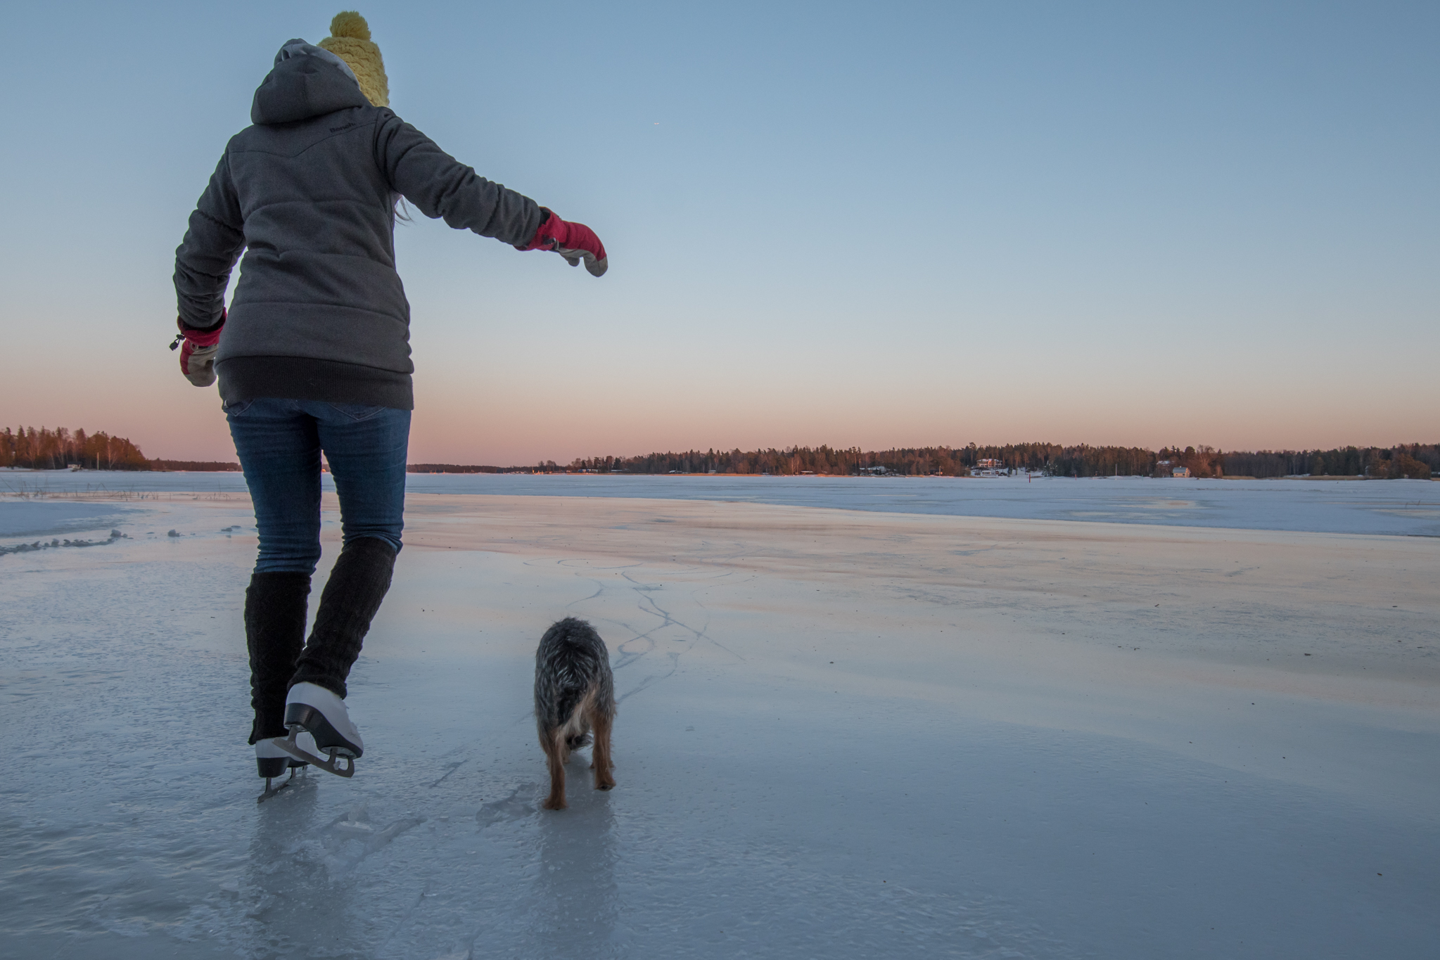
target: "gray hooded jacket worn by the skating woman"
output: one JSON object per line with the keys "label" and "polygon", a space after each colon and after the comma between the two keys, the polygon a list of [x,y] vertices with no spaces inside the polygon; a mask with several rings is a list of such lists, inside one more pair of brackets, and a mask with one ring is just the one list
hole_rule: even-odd
{"label": "gray hooded jacket worn by the skating woman", "polygon": [[409,410],[410,305],[395,272],[395,201],[524,246],[543,214],[387,108],[334,53],[291,40],[255,91],[176,249],[180,322],[220,322],[226,403],[279,397]]}

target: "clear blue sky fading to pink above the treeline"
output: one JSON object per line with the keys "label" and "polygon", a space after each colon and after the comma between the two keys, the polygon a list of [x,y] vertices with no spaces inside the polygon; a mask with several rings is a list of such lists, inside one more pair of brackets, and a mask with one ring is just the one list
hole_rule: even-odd
{"label": "clear blue sky fading to pink above the treeline", "polygon": [[[3,426],[235,459],[174,248],[337,1],[12,4]],[[1434,3],[376,3],[392,107],[602,279],[419,217],[410,461],[1440,440]]]}

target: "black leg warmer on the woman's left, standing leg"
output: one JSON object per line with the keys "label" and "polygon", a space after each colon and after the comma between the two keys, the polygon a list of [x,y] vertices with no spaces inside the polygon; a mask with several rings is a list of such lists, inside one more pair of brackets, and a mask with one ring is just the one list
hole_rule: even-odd
{"label": "black leg warmer on the woman's left, standing leg", "polygon": [[285,735],[285,692],[305,643],[308,573],[256,573],[245,592],[245,645],[251,651],[251,743]]}

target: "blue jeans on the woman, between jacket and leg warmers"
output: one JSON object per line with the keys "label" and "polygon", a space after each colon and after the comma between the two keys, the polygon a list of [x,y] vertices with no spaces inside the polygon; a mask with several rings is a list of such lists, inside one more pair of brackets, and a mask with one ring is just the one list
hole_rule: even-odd
{"label": "blue jeans on the woman, between jacket and leg warmers", "polygon": [[255,573],[315,571],[320,452],[340,495],[344,543],[377,537],[400,550],[410,412],[320,400],[225,404],[261,531]]}

